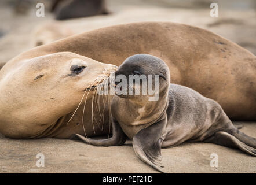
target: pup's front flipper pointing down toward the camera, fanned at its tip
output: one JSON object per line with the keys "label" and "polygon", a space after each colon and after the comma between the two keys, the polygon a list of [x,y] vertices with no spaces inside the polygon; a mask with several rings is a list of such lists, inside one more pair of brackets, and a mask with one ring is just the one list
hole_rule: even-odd
{"label": "pup's front flipper pointing down toward the camera, fanned at its tip", "polygon": [[138,158],[163,173],[166,172],[164,172],[164,166],[162,165],[161,146],[166,121],[167,118],[153,123],[133,137],[133,149]]}

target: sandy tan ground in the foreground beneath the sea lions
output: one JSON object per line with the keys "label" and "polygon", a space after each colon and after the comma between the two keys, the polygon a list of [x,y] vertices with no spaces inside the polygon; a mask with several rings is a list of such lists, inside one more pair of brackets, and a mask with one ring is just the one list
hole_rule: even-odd
{"label": "sandy tan ground in the foreground beneath the sea lions", "polygon": [[[241,124],[241,123],[240,123]],[[241,131],[256,138],[256,123],[242,123]],[[36,155],[45,167],[36,166]],[[211,167],[211,154],[218,168]],[[168,173],[256,173],[255,157],[210,143],[183,143],[162,149]],[[158,173],[139,160],[128,141],[123,146],[96,147],[68,139],[0,139],[0,173]]]}

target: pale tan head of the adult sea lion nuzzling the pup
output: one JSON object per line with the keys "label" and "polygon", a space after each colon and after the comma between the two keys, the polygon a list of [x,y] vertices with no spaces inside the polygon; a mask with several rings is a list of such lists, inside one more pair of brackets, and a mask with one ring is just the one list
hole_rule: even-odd
{"label": "pale tan head of the adult sea lion nuzzling the pup", "polygon": [[[27,134],[38,134],[42,131],[38,125],[47,128],[74,111],[88,89],[103,82],[116,68],[70,52],[20,61],[0,80],[0,128],[6,125],[1,132],[14,137],[35,123],[35,131]],[[92,94],[87,99],[90,97]]]}

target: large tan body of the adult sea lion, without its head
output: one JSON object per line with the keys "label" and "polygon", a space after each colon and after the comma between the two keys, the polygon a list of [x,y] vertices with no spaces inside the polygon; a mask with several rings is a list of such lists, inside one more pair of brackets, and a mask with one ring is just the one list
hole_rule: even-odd
{"label": "large tan body of the adult sea lion, without its head", "polygon": [[[214,99],[232,120],[256,120],[256,57],[250,51],[221,36],[184,24],[116,25],[35,47],[14,57],[3,66],[0,71],[0,82],[23,60],[62,51],[70,51],[117,66],[133,54],[152,54],[167,63],[173,76],[173,83],[188,86]],[[34,105],[36,106],[36,103]],[[2,109],[5,108],[1,107],[0,110]],[[78,112],[81,113],[82,108]],[[90,121],[91,112],[92,108],[87,106],[87,136],[102,133],[97,130],[94,134]],[[29,116],[29,112],[27,115]],[[60,125],[57,132],[51,136],[68,138],[74,133],[82,134],[82,127],[79,124],[81,114],[78,115],[67,126]],[[66,117],[68,120],[69,116]],[[75,127],[75,124],[78,124],[78,127]]]}

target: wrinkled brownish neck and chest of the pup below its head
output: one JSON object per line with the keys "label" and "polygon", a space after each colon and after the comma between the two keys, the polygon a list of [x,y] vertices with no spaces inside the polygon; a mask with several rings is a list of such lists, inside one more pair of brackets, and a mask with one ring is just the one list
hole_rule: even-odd
{"label": "wrinkled brownish neck and chest of the pup below its head", "polygon": [[167,96],[166,94],[155,102],[115,97],[118,100],[114,101],[112,114],[122,127],[123,132],[132,139],[141,129],[163,119],[169,103]]}

